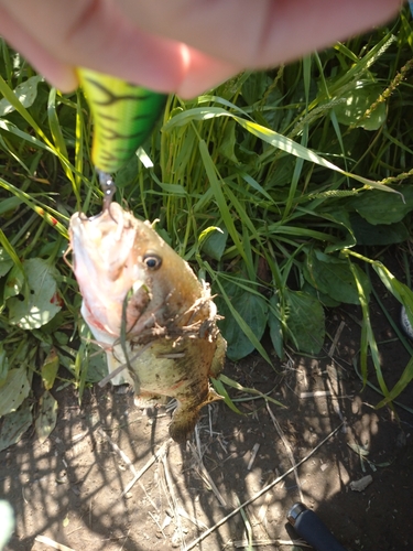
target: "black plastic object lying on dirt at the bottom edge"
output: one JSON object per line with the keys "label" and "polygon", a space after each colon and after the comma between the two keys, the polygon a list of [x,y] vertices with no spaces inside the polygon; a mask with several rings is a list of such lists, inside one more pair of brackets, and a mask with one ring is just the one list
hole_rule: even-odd
{"label": "black plastic object lying on dirt at the bottom edge", "polygon": [[301,538],[317,551],[346,551],[317,515],[297,501],[289,510],[286,518]]}

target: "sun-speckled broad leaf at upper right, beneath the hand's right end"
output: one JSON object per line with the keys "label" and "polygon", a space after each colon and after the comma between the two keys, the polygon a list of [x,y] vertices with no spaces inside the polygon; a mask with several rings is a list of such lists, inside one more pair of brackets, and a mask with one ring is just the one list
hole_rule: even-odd
{"label": "sun-speckled broad leaf at upper right, beneath the hand's right end", "polygon": [[385,122],[385,102],[363,117],[366,111],[378,99],[382,87],[368,80],[359,80],[351,89],[341,96],[346,101],[334,107],[338,122],[346,126],[362,127],[366,130],[378,130]]}

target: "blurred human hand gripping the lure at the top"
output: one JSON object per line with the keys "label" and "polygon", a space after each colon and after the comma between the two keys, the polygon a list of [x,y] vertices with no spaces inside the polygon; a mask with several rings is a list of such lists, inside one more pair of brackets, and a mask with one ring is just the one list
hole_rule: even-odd
{"label": "blurred human hand gripping the lure at the top", "polygon": [[54,86],[85,66],[193,97],[387,21],[401,0],[0,0],[0,34]]}

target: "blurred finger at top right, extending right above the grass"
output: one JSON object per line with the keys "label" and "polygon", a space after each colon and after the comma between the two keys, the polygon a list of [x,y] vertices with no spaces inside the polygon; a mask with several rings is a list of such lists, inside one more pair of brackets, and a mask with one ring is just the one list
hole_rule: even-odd
{"label": "blurred finger at top right, extending right above the grass", "polygon": [[146,31],[249,68],[285,63],[395,15],[401,0],[118,0]]}

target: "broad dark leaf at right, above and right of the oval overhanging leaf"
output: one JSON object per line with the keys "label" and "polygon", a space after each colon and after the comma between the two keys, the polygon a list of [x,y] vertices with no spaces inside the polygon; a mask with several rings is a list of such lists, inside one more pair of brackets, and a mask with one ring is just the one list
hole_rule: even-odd
{"label": "broad dark leaf at right, above and right of the oval overhanging leaf", "polygon": [[[370,283],[366,273],[358,266],[355,266],[355,270],[363,288],[369,290]],[[356,281],[347,260],[313,249],[307,255],[303,273],[308,283],[333,300],[347,304],[360,303]]]}

